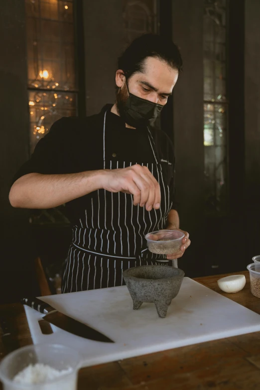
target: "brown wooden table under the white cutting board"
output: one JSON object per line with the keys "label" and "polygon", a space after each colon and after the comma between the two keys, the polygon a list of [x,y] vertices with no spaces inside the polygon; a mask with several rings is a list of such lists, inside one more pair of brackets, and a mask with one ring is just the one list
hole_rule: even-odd
{"label": "brown wooden table under the white cutting board", "polygon": [[[226,275],[195,280],[260,314],[260,299],[246,287],[222,292],[217,280]],[[12,323],[19,346],[32,343],[21,304],[0,306]],[[4,355],[0,344],[0,357]],[[260,389],[260,332],[157,352],[81,369],[78,390],[257,390]]]}

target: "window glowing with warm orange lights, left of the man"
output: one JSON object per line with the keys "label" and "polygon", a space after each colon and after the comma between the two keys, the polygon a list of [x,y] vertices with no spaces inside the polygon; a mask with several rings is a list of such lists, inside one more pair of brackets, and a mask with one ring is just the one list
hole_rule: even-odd
{"label": "window glowing with warm orange lights, left of the man", "polygon": [[30,150],[77,112],[73,0],[25,0]]}

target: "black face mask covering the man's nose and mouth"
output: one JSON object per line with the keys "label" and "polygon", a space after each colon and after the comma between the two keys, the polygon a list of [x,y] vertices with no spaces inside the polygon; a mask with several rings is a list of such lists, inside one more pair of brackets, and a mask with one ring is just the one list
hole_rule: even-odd
{"label": "black face mask covering the man's nose and mouth", "polygon": [[[127,87],[128,87],[128,82]],[[125,103],[124,116],[126,123],[134,128],[151,125],[160,115],[164,106],[139,98],[129,92],[129,97]]]}

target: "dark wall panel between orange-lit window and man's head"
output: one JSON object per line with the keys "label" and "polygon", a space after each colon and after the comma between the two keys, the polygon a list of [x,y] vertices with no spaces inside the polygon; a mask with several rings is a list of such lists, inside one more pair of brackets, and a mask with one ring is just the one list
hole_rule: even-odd
{"label": "dark wall panel between orange-lit window and man's head", "polygon": [[115,101],[117,58],[123,48],[123,1],[84,1],[87,115]]}

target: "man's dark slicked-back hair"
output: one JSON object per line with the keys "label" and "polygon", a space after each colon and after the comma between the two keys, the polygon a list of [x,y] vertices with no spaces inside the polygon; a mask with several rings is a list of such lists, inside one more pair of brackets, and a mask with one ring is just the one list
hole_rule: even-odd
{"label": "man's dark slicked-back hair", "polygon": [[182,71],[182,58],[178,47],[170,40],[155,34],[143,34],[134,39],[118,59],[118,69],[127,78],[134,73],[144,73],[143,61],[155,57],[165,61],[171,68]]}

